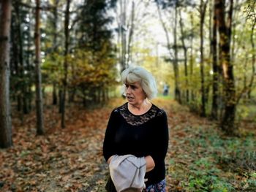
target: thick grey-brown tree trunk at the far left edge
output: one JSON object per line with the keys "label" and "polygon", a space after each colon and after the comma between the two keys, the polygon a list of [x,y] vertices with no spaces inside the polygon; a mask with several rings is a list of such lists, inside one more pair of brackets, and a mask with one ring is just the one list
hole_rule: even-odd
{"label": "thick grey-brown tree trunk at the far left edge", "polygon": [[12,146],[10,114],[10,23],[12,2],[0,1],[0,147]]}

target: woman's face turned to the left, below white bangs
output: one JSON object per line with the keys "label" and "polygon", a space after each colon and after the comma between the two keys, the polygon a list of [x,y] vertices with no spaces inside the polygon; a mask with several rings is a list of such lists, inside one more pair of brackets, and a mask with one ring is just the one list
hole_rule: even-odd
{"label": "woman's face turned to the left, below white bangs", "polygon": [[125,86],[129,104],[140,104],[146,99],[146,93],[143,91],[140,82],[126,83]]}

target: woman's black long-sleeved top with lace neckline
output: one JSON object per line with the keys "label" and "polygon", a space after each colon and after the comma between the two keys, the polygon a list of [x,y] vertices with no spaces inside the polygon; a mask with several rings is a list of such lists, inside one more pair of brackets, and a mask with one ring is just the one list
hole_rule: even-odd
{"label": "woman's black long-sleeved top with lace neckline", "polygon": [[155,167],[146,173],[148,186],[165,179],[168,139],[165,111],[152,104],[145,114],[133,115],[126,103],[111,112],[105,132],[103,155],[106,161],[111,155],[151,155]]}

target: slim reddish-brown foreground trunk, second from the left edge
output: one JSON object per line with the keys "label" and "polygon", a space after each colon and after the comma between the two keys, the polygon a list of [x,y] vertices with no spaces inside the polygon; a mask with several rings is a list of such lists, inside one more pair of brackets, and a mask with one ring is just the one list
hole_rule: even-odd
{"label": "slim reddish-brown foreground trunk, second from the left edge", "polygon": [[45,134],[43,110],[42,110],[42,77],[41,77],[41,58],[40,58],[40,1],[37,0],[36,7],[36,27],[34,31],[35,47],[36,47],[36,58],[35,58],[35,69],[36,69],[36,107],[37,107],[37,134]]}

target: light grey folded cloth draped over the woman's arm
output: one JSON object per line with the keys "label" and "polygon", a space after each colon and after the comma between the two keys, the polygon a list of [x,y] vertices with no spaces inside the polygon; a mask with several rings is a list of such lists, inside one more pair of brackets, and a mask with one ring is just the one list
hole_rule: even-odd
{"label": "light grey folded cloth draped over the woman's arm", "polygon": [[138,158],[135,155],[114,155],[109,169],[117,192],[142,191],[145,187],[145,158]]}

